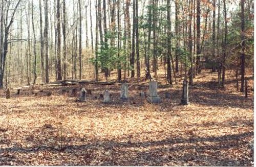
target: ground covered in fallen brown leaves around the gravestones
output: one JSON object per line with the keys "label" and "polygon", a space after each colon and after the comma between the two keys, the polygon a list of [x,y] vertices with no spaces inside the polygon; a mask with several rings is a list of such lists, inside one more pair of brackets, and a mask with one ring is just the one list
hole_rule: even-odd
{"label": "ground covered in fallen brown leaves around the gravestones", "polygon": [[[0,90],[0,165],[253,165],[252,74],[245,98],[230,71],[218,89],[217,73],[203,70],[187,106],[179,104],[181,80],[168,86],[158,77],[155,105],[139,99],[148,84],[136,79],[125,102],[118,83],[12,89],[11,99]],[[87,102],[71,97],[74,87],[92,90]],[[99,98],[105,89],[111,104]]]}

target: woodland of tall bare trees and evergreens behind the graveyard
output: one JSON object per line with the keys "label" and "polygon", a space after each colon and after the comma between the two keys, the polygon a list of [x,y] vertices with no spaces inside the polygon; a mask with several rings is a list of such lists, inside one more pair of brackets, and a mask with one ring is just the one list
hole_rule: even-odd
{"label": "woodland of tall bare trees and evergreens behind the graveyard", "polygon": [[[5,1],[0,11],[0,87],[117,75],[166,82],[201,68],[236,74],[244,91],[253,67],[254,2],[74,0]],[[142,71],[142,72],[141,72]],[[103,78],[102,78],[103,79]]]}

